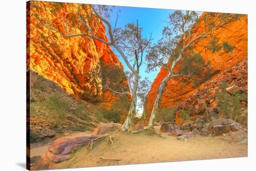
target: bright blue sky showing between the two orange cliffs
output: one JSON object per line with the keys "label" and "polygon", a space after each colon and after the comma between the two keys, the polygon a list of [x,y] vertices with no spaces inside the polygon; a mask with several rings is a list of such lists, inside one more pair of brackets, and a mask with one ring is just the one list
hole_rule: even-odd
{"label": "bright blue sky showing between the two orange cliffs", "polygon": [[[161,39],[162,29],[167,25],[167,23],[164,21],[168,21],[168,15],[174,11],[168,9],[115,6],[113,13],[111,13],[111,18],[109,19],[113,27],[115,26],[116,12],[119,12],[119,9],[121,12],[119,13],[117,27],[124,27],[127,23],[135,23],[138,20],[139,26],[143,28],[143,36],[147,35],[148,37],[149,33],[152,32],[152,43],[155,43],[158,39]],[[112,49],[119,56],[119,60],[123,64],[124,69],[129,71],[119,53],[114,48]],[[157,71],[150,73],[146,73],[145,70],[146,64],[143,64],[140,68],[141,77],[148,77],[153,82],[160,68],[157,68]]]}

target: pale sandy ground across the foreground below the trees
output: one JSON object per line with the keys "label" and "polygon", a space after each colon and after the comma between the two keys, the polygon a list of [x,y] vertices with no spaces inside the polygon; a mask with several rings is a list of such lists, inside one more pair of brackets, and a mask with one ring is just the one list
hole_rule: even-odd
{"label": "pale sandy ground across the foreground below the trees", "polygon": [[[67,135],[65,138],[86,136],[84,133]],[[56,164],[56,168],[75,168],[104,165],[141,164],[213,158],[247,157],[247,145],[238,144],[221,137],[196,137],[187,141],[163,133],[149,135],[148,132],[136,134],[115,133],[110,145],[108,138],[97,140],[93,150],[82,147],[67,161]],[[47,146],[32,149],[34,155],[45,154]],[[118,158],[121,161],[100,159]]]}

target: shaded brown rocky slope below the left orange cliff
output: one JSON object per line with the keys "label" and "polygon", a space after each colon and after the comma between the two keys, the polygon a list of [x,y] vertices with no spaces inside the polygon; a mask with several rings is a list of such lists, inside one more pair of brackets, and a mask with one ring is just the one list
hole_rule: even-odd
{"label": "shaded brown rocky slope below the left orange cliff", "polygon": [[31,142],[48,141],[64,132],[92,131],[101,121],[107,122],[97,105],[75,98],[34,71],[27,74],[27,128]]}

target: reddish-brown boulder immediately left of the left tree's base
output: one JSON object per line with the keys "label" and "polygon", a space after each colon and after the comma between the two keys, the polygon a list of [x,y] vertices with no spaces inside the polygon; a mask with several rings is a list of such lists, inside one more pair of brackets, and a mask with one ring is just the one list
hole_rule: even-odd
{"label": "reddish-brown boulder immediately left of the left tree's base", "polygon": [[100,125],[94,129],[92,135],[101,135],[116,132],[119,128],[121,128],[121,124],[105,124],[101,122]]}

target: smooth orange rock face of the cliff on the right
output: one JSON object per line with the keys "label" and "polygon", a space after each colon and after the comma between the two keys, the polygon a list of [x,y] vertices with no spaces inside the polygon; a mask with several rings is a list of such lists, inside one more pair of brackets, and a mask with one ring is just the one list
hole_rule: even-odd
{"label": "smooth orange rock face of the cliff on the right", "polygon": [[[202,24],[197,23],[196,25],[198,25],[198,29],[200,29],[200,25]],[[231,53],[224,53],[222,50],[212,53],[202,46],[195,46],[195,51],[201,53],[204,61],[209,61],[211,63],[213,75],[217,75],[217,73],[227,70],[244,59],[247,59],[247,15],[244,15],[241,20],[230,23],[227,26],[227,29],[218,29],[215,31],[215,34],[220,43],[227,41],[231,46],[234,46],[234,49]],[[199,44],[208,45],[210,40],[212,39],[202,39]],[[150,117],[149,115],[153,108],[159,86],[166,75],[167,71],[161,68],[151,85],[151,89],[148,92],[148,100],[146,102],[147,109],[145,112],[147,118]],[[181,83],[178,78],[170,79],[167,86],[164,88],[160,107],[176,107],[195,92],[193,85]]]}

